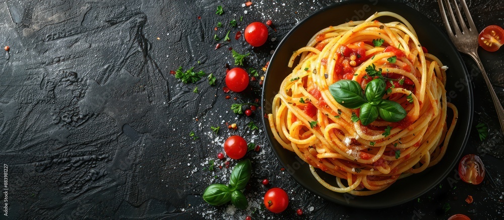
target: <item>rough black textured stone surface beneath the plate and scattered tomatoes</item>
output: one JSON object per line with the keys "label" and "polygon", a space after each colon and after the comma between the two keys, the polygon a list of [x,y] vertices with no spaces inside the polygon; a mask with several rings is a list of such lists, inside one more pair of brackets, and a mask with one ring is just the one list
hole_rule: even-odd
{"label": "rough black textured stone surface beneath the plate and scattered tomatoes", "polygon": [[[10,219],[446,219],[464,213],[472,219],[503,214],[503,138],[489,93],[475,63],[473,126],[485,122],[490,134],[480,141],[471,132],[465,154],[476,153],[487,176],[480,185],[453,175],[439,187],[405,204],[363,210],[325,201],[297,184],[272,154],[260,111],[238,116],[233,103],[260,100],[261,85],[225,94],[225,64],[234,67],[232,47],[250,53],[245,68],[261,69],[298,21],[335,1],[5,1],[0,4],[0,42],[10,51],[0,58],[0,163],[8,165]],[[338,2],[338,1],[336,1]],[[370,4],[375,1],[370,0]],[[439,26],[437,1],[400,1]],[[223,6],[222,16],[215,14]],[[504,26],[501,1],[468,0],[474,22]],[[247,13],[245,13],[247,11]],[[200,16],[200,19],[198,17]],[[231,19],[239,19],[230,28]],[[274,23],[268,42],[252,48],[236,31],[254,21]],[[214,30],[217,22],[224,26]],[[215,50],[214,34],[231,41]],[[158,39],[159,38],[159,39]],[[504,101],[504,49],[480,56]],[[170,75],[178,66],[212,72],[185,85]],[[264,75],[264,71],[259,71]],[[199,92],[193,93],[195,87]],[[225,99],[230,95],[231,99]],[[234,100],[236,98],[237,100]],[[246,124],[254,121],[260,131]],[[226,123],[237,123],[237,130]],[[210,126],[220,126],[218,134]],[[194,140],[189,133],[199,137]],[[227,183],[235,160],[217,160],[233,134],[261,146],[247,153],[253,175],[244,191],[249,210],[214,207],[201,197],[212,183]],[[454,134],[453,138],[463,138]],[[216,160],[216,170],[208,163]],[[223,166],[219,169],[219,166]],[[269,186],[261,180],[268,178]],[[268,188],[287,191],[281,214],[260,207]],[[4,192],[5,190],[3,190]],[[400,192],[398,192],[400,193]],[[464,199],[472,195],[474,202]],[[2,194],[4,198],[4,194]],[[445,211],[443,207],[450,205]],[[3,206],[3,204],[2,204]],[[296,209],[303,215],[297,216]],[[2,208],[2,210],[4,210]],[[1,212],[4,214],[4,212]],[[1,215],[3,218],[6,216]]]}

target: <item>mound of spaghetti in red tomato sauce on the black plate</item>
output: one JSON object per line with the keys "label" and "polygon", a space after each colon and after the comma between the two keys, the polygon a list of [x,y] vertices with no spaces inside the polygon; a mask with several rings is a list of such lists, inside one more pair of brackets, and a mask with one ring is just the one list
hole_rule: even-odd
{"label": "mound of spaghetti in red tomato sauce on the black plate", "polygon": [[[397,21],[376,20],[382,16]],[[443,158],[458,115],[447,102],[446,67],[422,48],[403,17],[380,12],[365,21],[330,26],[295,51],[289,67],[297,57],[268,120],[275,139],[307,162],[326,188],[371,195]],[[357,121],[361,112],[336,101],[330,89],[351,80],[364,90],[374,79],[385,82],[383,100],[404,109],[402,120],[390,122],[381,115],[372,122]],[[454,115],[450,123],[448,109]],[[325,182],[314,168],[335,176],[338,186]]]}

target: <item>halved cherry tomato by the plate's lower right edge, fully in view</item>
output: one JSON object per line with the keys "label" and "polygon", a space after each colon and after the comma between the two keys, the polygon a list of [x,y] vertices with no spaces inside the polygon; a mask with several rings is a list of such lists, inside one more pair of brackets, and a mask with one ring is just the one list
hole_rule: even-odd
{"label": "halved cherry tomato by the plate's lower right edge, fully in view", "polygon": [[478,185],[485,178],[485,167],[476,155],[466,155],[460,160],[459,175],[466,183]]}

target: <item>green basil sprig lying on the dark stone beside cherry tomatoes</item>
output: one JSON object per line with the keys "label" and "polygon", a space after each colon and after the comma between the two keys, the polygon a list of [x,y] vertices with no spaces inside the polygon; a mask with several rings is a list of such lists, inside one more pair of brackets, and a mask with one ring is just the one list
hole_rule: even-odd
{"label": "green basil sprig lying on the dark stone beside cherry tomatoes", "polygon": [[245,188],[251,174],[252,164],[250,160],[245,159],[238,162],[231,172],[229,185],[214,183],[208,186],[203,192],[203,200],[211,205],[222,205],[231,201],[237,208],[246,209],[248,201],[240,190]]}

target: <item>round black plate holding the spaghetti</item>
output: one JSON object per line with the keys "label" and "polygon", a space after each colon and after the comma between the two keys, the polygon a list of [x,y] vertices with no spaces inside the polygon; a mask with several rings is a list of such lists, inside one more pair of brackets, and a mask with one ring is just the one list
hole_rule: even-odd
{"label": "round black plate holding the spaghetti", "polygon": [[[457,106],[459,119],[450,140],[448,151],[437,165],[422,173],[398,180],[388,189],[374,195],[353,196],[348,193],[336,193],[322,186],[311,175],[308,164],[304,163],[294,153],[282,148],[272,135],[268,119],[263,119],[273,152],[280,164],[299,184],[322,198],[353,207],[383,208],[402,204],[437,186],[447,175],[454,174],[456,172],[454,167],[464,150],[472,122],[473,96],[471,87],[468,86],[470,81],[467,69],[445,31],[436,26],[421,12],[404,4],[386,0],[352,1],[334,4],[299,22],[285,36],[271,58],[263,88],[263,114],[271,113],[273,97],[277,94],[283,79],[292,71],[292,68],[287,67],[287,63],[293,51],[305,46],[308,40],[323,28],[330,25],[339,25],[349,20],[364,20],[373,13],[380,11],[395,12],[407,19],[418,34],[420,43],[428,48],[429,53],[436,55],[444,65],[449,67],[447,71],[447,96],[449,101]],[[379,20],[389,22],[386,17],[380,17]],[[336,185],[333,176],[324,172],[318,173],[326,181]]]}

